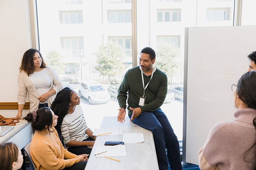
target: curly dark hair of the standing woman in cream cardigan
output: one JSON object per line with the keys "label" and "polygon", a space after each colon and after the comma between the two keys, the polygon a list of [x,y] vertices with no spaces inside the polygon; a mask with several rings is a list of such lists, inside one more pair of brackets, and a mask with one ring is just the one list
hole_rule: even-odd
{"label": "curly dark hair of the standing woman in cream cardigan", "polygon": [[30,76],[30,74],[33,74],[33,72],[34,72],[34,61],[33,60],[34,60],[34,55],[36,52],[38,52],[38,54],[40,55],[40,57],[42,59],[42,64],[41,64],[40,68],[46,67],[46,63],[44,62],[44,59],[43,59],[40,51],[37,49],[31,48],[23,54],[22,63],[19,67],[19,70],[20,70],[19,72],[25,71],[28,74],[28,76]]}

